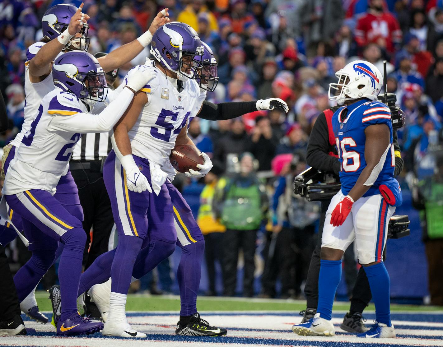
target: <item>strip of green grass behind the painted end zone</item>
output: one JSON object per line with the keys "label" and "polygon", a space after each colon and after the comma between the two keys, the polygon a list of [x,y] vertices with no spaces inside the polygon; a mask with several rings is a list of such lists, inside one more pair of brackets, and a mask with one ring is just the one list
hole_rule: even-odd
{"label": "strip of green grass behind the painted end zone", "polygon": [[[51,301],[48,293],[39,291],[35,293],[40,311],[51,311]],[[199,311],[293,311],[298,312],[306,308],[306,303],[301,300],[281,299],[249,299],[249,298],[225,298],[225,297],[198,297],[197,307]],[[128,311],[176,311],[180,310],[180,298],[178,296],[149,296],[129,294]],[[391,311],[437,311],[437,306],[420,305],[391,305]],[[335,302],[335,311],[348,311],[349,304]],[[373,311],[374,305],[370,304],[368,310]]]}

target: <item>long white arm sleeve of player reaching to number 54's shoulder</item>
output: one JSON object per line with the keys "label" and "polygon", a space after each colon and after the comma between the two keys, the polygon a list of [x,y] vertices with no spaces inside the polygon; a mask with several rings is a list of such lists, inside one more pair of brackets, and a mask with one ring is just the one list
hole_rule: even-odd
{"label": "long white arm sleeve of player reaching to number 54's shoulder", "polygon": [[131,103],[134,93],[129,89],[121,91],[119,96],[109,104],[97,116],[89,113],[75,113],[70,116],[62,116],[55,113],[49,123],[50,131],[69,131],[80,133],[109,132],[123,115]]}

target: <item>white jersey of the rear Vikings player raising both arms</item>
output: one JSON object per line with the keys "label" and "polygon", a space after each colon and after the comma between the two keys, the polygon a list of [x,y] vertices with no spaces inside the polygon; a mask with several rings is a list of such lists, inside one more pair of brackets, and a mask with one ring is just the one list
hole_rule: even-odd
{"label": "white jersey of the rear Vikings player raising both arms", "polygon": [[37,54],[44,44],[44,42],[35,42],[29,46],[26,51],[24,123],[22,125],[22,130],[16,135],[16,138],[11,141],[11,144],[15,147],[20,146],[23,137],[31,130],[32,120],[39,112],[39,106],[42,102],[43,96],[54,90],[52,70],[43,81],[32,83],[29,78],[29,62],[35,57],[35,54]]}

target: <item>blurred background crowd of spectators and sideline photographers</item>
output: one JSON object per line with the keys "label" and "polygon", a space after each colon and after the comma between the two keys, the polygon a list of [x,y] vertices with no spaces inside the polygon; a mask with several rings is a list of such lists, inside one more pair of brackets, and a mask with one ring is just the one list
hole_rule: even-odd
{"label": "blurred background crowd of spectators and sideline photographers", "polygon": [[[328,85],[337,80],[334,73],[347,62],[364,58],[383,71],[383,60],[388,61],[387,89],[396,93],[406,117],[406,126],[398,133],[405,161],[402,177],[413,172],[418,180],[425,180],[434,173],[432,160],[424,159],[428,158],[428,147],[441,139],[442,0],[84,2],[83,12],[91,17],[90,53],[110,52],[136,39],[159,10],[169,8],[171,20],[192,26],[217,56],[220,83],[214,93],[208,93],[208,100],[218,103],[278,97],[290,107],[288,115],[276,109],[232,121],[195,119],[190,125],[190,137],[200,150],[211,155],[214,170],[204,181],[178,177],[175,184],[183,190],[205,234],[209,294],[235,294],[239,250],[245,264],[243,295],[256,295],[253,276],[257,254],[265,260],[261,295],[279,295],[275,285],[278,277],[281,297],[302,292],[315,244],[318,211],[316,205],[303,206],[304,200],[299,201],[300,208],[309,211],[305,218],[288,218],[280,225],[275,216],[284,192],[277,192],[275,187],[285,177],[291,177],[291,182],[306,167],[305,150],[312,125],[319,112],[332,106]],[[8,143],[23,123],[27,46],[41,39],[40,19],[49,6],[58,3],[62,1],[3,0],[0,4],[0,90],[8,101],[10,122],[9,130],[0,138],[1,145]],[[81,1],[70,3],[78,6]],[[120,68],[119,77],[149,56],[146,48]],[[280,195],[274,195],[277,193]],[[247,222],[241,221],[239,205],[235,205],[239,194],[249,200]],[[272,243],[277,232],[288,234],[284,244]],[[443,238],[441,233],[428,237],[426,230],[424,235],[425,243]],[[226,243],[229,247],[221,249]],[[346,280],[352,288],[355,261],[352,254],[348,258]],[[14,259],[17,261],[17,254]],[[223,265],[222,293],[213,275],[217,262]],[[441,273],[441,258],[434,266]],[[159,272],[169,274],[168,266],[163,268]],[[291,276],[280,276],[281,271]]]}

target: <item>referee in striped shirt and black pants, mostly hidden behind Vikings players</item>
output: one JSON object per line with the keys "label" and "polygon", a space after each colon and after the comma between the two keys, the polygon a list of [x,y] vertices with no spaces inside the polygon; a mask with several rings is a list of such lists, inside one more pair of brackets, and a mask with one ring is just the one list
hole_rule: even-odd
{"label": "referee in striped shirt and black pants, mostly hidden behind Vikings players", "polygon": [[[100,58],[104,55],[106,54],[99,52],[94,54],[94,57]],[[113,89],[117,75],[118,69],[106,73],[106,82],[110,89]],[[102,169],[111,149],[112,144],[108,133],[83,134],[74,147],[69,165],[83,208],[83,228],[87,234],[83,257],[85,269],[100,254],[109,250],[109,236],[114,225],[114,218],[111,201],[103,181]],[[93,229],[92,237],[91,228]]]}

